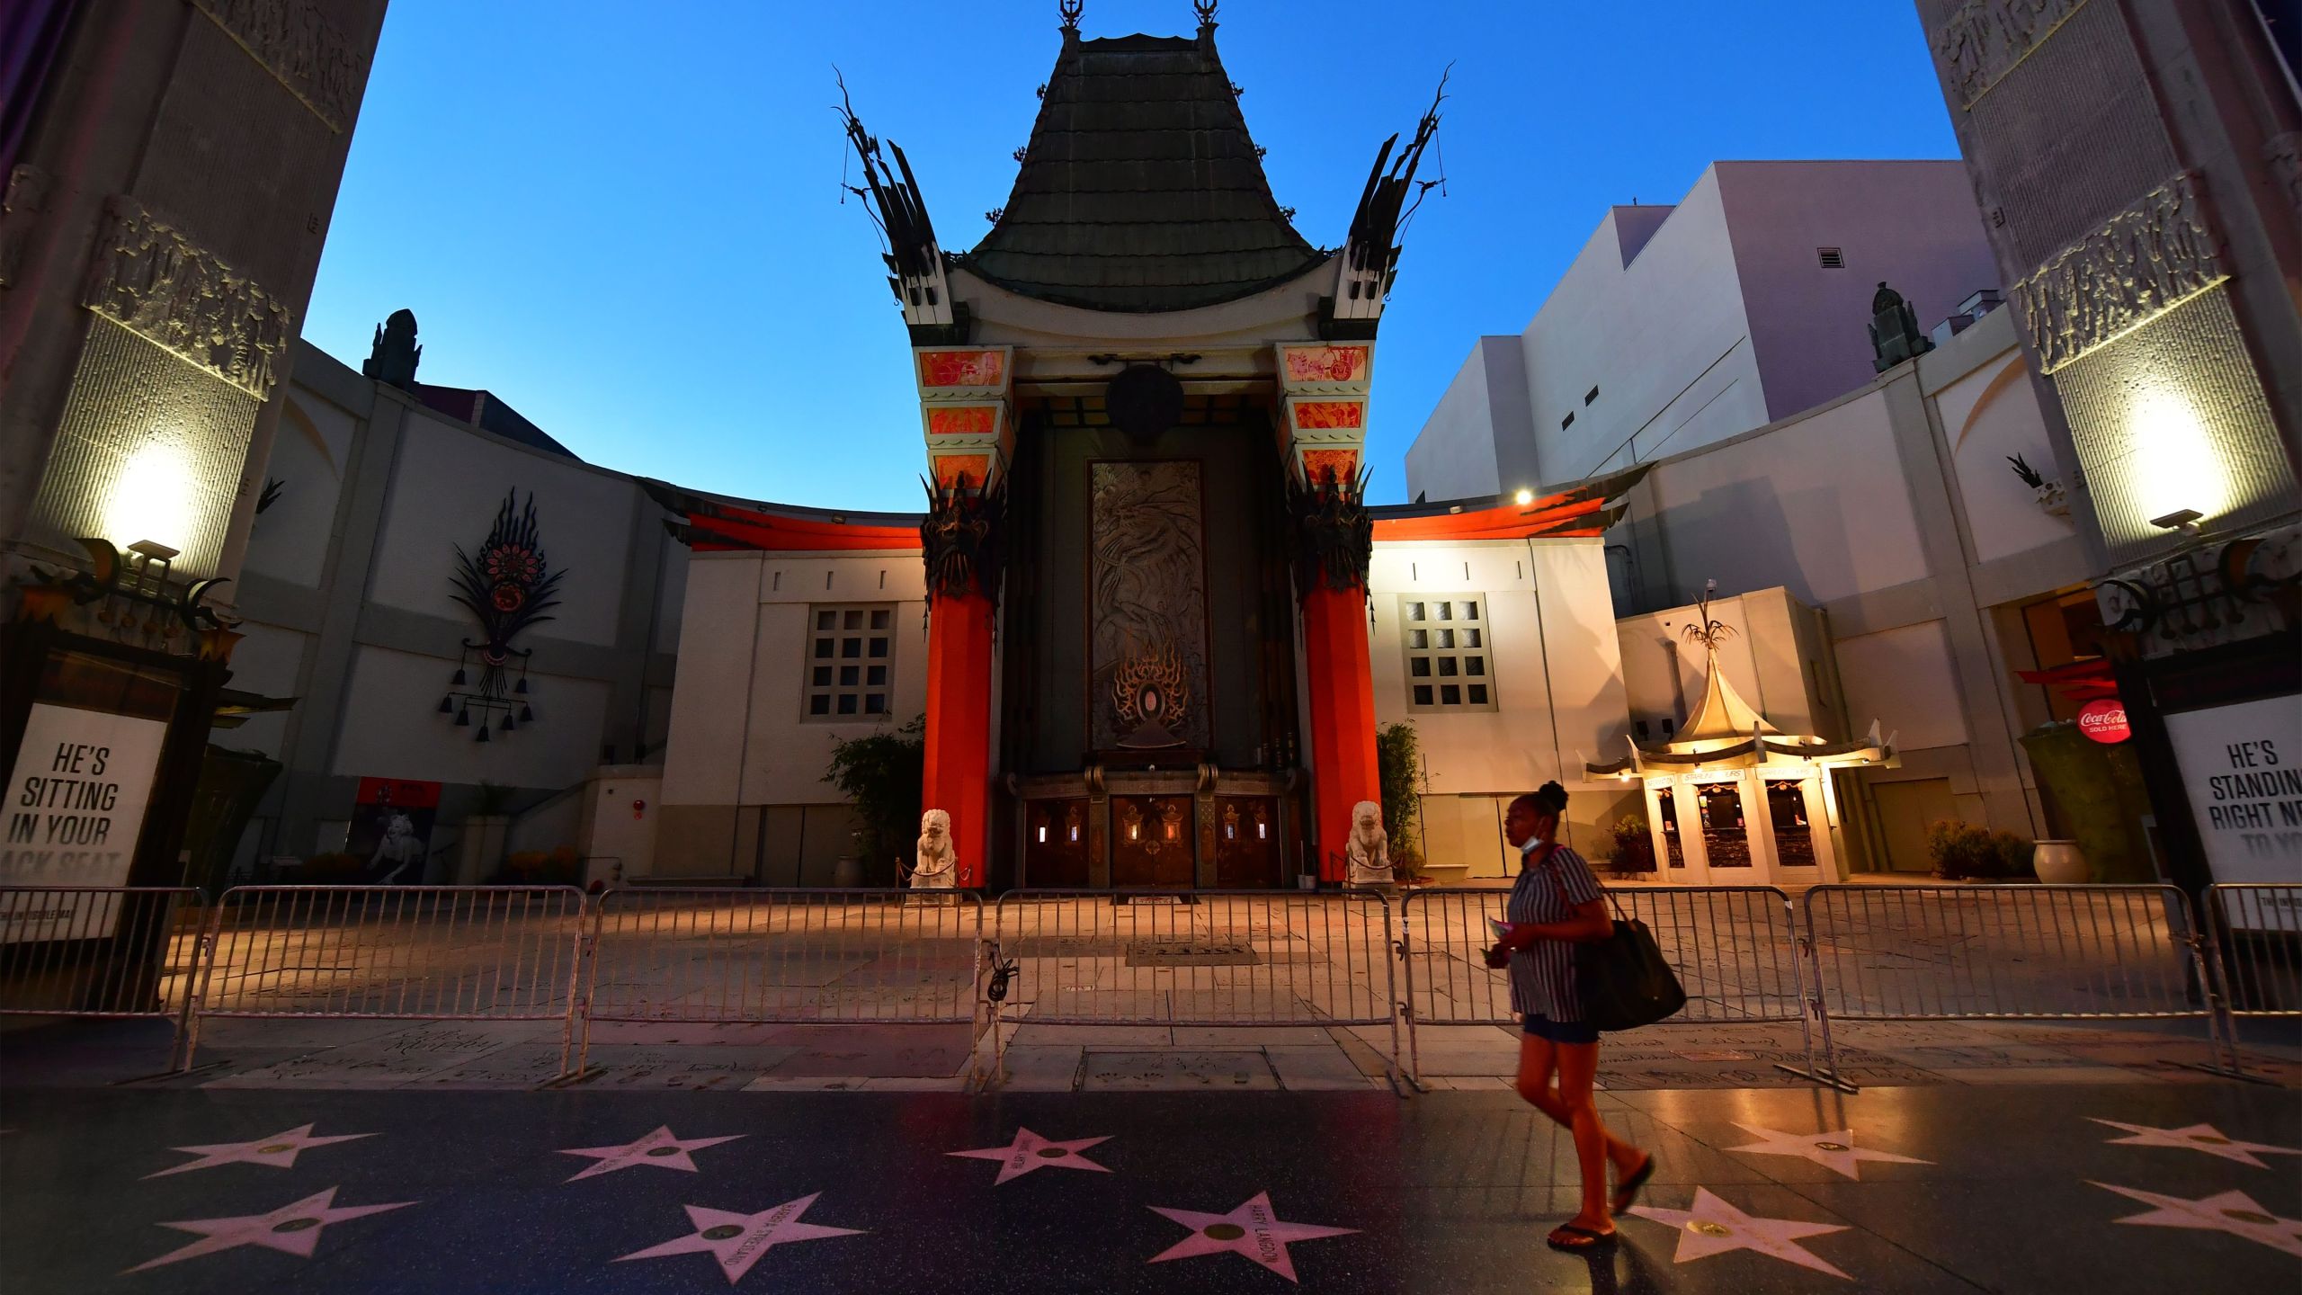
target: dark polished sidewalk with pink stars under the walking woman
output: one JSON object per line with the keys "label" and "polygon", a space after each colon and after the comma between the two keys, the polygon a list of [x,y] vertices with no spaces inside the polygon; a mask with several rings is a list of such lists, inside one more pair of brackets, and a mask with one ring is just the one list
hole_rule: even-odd
{"label": "dark polished sidewalk with pink stars under the walking woman", "polygon": [[12,1295],[2157,1293],[2302,1277],[2290,1090],[1600,1104],[1657,1171],[1611,1251],[1563,1256],[1542,1235],[1575,1210],[1572,1145],[1508,1092],[9,1083],[0,1256]]}

